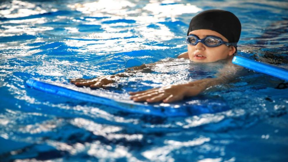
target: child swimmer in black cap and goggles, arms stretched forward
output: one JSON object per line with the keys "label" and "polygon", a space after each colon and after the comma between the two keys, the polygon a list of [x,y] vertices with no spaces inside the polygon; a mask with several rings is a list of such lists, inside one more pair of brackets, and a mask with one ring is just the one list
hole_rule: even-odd
{"label": "child swimmer in black cap and goggles, arms stretched forward", "polygon": [[[191,19],[187,32],[186,42],[188,51],[178,58],[187,58],[193,62],[211,63],[218,60],[227,60],[227,65],[216,78],[200,79],[197,81],[153,88],[145,91],[129,92],[130,99],[136,102],[174,102],[184,97],[200,94],[207,88],[234,79],[238,68],[231,63],[234,53],[237,52],[237,42],[241,34],[241,23],[231,12],[225,10],[206,10]],[[145,65],[133,67],[134,70],[145,68]],[[129,69],[128,69],[129,70]],[[229,72],[228,72],[229,71]],[[127,74],[100,76],[95,79],[70,79],[76,86],[90,88],[105,88],[115,82],[118,77]]]}

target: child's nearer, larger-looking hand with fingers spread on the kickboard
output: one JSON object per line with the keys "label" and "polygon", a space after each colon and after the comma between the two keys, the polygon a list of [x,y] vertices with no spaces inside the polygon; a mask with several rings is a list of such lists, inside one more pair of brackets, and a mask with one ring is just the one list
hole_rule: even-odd
{"label": "child's nearer, larger-looking hand with fingers spread on the kickboard", "polygon": [[205,88],[201,85],[188,86],[187,84],[179,84],[139,92],[129,92],[129,94],[132,95],[130,99],[136,102],[162,101],[168,103],[182,100],[185,96],[196,96],[203,90],[205,90]]}

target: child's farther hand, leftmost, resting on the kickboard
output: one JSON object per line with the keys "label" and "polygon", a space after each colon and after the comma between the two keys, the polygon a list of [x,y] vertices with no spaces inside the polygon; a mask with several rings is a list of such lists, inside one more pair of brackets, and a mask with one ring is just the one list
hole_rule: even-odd
{"label": "child's farther hand, leftmost, resting on the kickboard", "polygon": [[76,86],[85,86],[90,88],[106,88],[110,83],[114,83],[116,80],[115,75],[99,76],[93,79],[69,79],[70,83],[74,83]]}

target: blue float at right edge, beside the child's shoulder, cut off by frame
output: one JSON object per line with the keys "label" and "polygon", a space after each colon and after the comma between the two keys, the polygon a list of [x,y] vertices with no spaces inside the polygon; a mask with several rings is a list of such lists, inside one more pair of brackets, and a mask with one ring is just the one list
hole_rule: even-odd
{"label": "blue float at right edge, beside the child's shoulder, cut off by frame", "polygon": [[232,63],[288,81],[288,70],[283,68],[250,60],[241,56],[234,56]]}

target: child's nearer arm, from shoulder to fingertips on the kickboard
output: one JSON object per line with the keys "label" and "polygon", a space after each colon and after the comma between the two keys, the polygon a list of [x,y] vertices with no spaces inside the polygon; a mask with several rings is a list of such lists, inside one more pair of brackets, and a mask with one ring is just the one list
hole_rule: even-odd
{"label": "child's nearer arm, from shoulder to fingertips on the kickboard", "polygon": [[130,92],[130,98],[134,101],[147,102],[174,102],[182,100],[184,97],[192,97],[200,94],[211,86],[229,83],[237,76],[239,66],[233,65],[229,61],[225,67],[216,74],[216,78],[200,79],[197,81],[154,88],[140,92]]}

